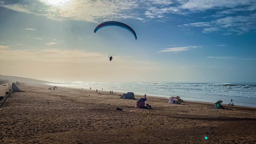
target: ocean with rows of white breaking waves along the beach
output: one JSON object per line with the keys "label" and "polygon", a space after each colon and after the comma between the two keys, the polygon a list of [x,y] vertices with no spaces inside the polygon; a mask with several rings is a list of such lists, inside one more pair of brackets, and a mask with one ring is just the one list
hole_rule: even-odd
{"label": "ocean with rows of white breaking waves along the beach", "polygon": [[98,89],[98,92],[134,92],[136,95],[166,97],[180,96],[183,100],[216,102],[222,100],[229,104],[256,107],[256,83],[94,83],[75,81],[70,83],[49,84],[72,88]]}

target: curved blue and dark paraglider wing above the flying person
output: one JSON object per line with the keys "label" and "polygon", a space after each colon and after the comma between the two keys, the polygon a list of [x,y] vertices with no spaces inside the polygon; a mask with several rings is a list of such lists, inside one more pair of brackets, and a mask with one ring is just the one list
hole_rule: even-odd
{"label": "curved blue and dark paraglider wing above the flying person", "polygon": [[99,24],[94,29],[94,33],[96,33],[99,29],[101,29],[103,27],[106,27],[106,26],[118,26],[118,27],[127,29],[134,35],[135,39],[137,39],[136,33],[134,32],[134,30],[129,25],[126,25],[126,24],[121,23],[121,22],[115,22],[115,21],[109,21],[109,22],[104,22],[104,23]]}

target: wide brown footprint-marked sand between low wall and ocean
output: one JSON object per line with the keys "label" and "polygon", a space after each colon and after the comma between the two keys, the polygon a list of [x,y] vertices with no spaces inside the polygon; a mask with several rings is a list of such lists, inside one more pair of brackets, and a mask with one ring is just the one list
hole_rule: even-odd
{"label": "wide brown footprint-marked sand between low wall and ocean", "polygon": [[254,108],[215,109],[191,101],[175,105],[166,98],[148,97],[146,103],[153,107],[149,110],[135,108],[136,100],[120,99],[119,93],[18,87],[29,92],[12,94],[1,108],[1,144],[256,143]]}

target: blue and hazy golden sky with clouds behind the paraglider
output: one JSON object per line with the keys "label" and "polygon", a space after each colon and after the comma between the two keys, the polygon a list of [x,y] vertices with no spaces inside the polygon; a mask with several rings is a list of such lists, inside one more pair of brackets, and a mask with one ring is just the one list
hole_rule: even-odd
{"label": "blue and hazy golden sky with clouds behind the paraglider", "polygon": [[[120,27],[104,27],[119,21]],[[255,82],[255,0],[0,0],[0,74],[47,81]],[[110,62],[109,55],[114,55]]]}

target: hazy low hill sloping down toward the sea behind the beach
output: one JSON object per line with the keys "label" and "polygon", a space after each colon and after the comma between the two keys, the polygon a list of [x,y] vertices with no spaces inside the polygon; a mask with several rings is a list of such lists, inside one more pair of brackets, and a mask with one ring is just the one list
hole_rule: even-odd
{"label": "hazy low hill sloping down toward the sea behind the beach", "polygon": [[0,79],[8,79],[10,83],[18,81],[20,83],[26,83],[26,84],[54,84],[53,82],[49,82],[45,80],[37,80],[32,78],[14,77],[14,76],[0,75]]}

